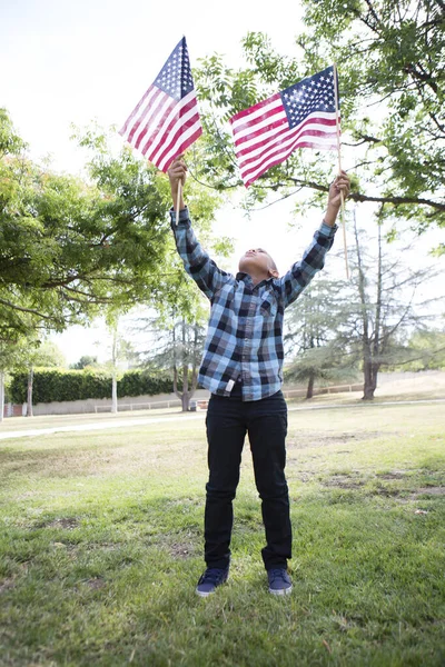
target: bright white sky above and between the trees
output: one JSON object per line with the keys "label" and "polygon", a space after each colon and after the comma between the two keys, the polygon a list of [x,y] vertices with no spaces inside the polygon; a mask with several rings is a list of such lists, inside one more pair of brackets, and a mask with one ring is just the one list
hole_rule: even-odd
{"label": "bright white sky above and between the trees", "polygon": [[[270,8],[273,7],[273,11]],[[285,20],[284,20],[285,17]],[[0,106],[6,107],[36,159],[50,156],[56,169],[78,172],[82,153],[69,140],[70,126],[120,127],[182,37],[191,66],[214,52],[241,63],[241,39],[266,32],[283,53],[297,57],[299,2],[205,0],[0,0]],[[347,168],[348,166],[345,165]],[[333,153],[333,178],[337,168]],[[293,202],[254,212],[233,207],[217,217],[215,231],[235,240],[233,266],[245,249],[266,247],[281,271],[308,245],[320,212],[290,227]],[[428,249],[429,241],[425,245]],[[73,328],[53,339],[68,362],[98,354],[101,326]]]}

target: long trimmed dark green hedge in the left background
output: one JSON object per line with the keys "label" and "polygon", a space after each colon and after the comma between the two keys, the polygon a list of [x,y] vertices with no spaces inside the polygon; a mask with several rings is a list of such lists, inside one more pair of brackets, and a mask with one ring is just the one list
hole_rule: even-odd
{"label": "long trimmed dark green hedge in the left background", "polygon": [[[165,374],[150,375],[129,370],[118,380],[118,397],[170,394],[172,380]],[[14,404],[27,400],[28,374],[16,372],[9,386],[9,398]],[[32,402],[111,398],[111,376],[93,370],[34,370]]]}

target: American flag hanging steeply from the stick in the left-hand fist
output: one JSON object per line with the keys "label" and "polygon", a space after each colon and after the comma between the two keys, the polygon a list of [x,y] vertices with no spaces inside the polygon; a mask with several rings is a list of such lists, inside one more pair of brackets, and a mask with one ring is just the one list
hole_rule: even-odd
{"label": "American flag hanging steeply from the stick in the left-hand fist", "polygon": [[188,49],[182,37],[119,135],[158,169],[167,171],[174,158],[201,133]]}

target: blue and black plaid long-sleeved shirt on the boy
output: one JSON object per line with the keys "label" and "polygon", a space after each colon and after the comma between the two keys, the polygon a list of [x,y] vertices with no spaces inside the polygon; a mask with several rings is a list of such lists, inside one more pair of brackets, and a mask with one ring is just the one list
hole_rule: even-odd
{"label": "blue and black plaid long-sleeved shirt on the boy", "polygon": [[337,226],[325,222],[310,246],[281,278],[254,286],[247,273],[218,269],[199,245],[188,213],[171,211],[171,229],[187,273],[211,303],[199,382],[219,396],[229,396],[236,380],[243,379],[243,400],[260,400],[276,394],[283,384],[284,310],[323,269]]}

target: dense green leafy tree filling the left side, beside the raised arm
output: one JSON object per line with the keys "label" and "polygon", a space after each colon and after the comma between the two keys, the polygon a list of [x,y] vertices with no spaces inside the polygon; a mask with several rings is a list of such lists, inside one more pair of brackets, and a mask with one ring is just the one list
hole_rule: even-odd
{"label": "dense green leafy tree filling the left side, beside the raised arm", "polygon": [[[179,278],[167,219],[168,182],[106,136],[77,137],[89,151],[88,181],[32,162],[0,112],[0,338],[60,331],[105,306],[171,299]],[[219,200],[190,183],[197,225]]]}

